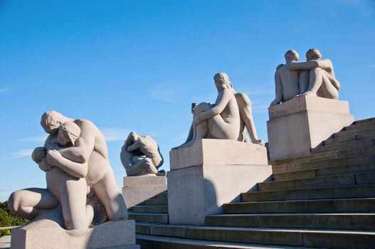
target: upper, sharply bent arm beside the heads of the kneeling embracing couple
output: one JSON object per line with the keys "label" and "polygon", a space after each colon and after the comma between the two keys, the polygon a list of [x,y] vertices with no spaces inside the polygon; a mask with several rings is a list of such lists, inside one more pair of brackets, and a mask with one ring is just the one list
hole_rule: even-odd
{"label": "upper, sharply bent arm beside the heads of the kneeling embracing couple", "polygon": [[93,153],[97,131],[95,125],[87,120],[81,124],[80,129],[80,137],[76,146],[60,149],[59,152],[65,159],[83,164],[88,162]]}

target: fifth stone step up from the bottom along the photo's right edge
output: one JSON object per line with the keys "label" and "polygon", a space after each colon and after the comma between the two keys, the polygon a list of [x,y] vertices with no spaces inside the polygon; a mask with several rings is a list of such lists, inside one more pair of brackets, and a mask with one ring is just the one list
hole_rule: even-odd
{"label": "fifth stone step up from the bottom along the photo's right edge", "polygon": [[311,189],[318,187],[360,184],[375,184],[375,173],[342,174],[336,176],[320,176],[308,179],[260,182],[258,183],[258,191],[273,191],[283,189]]}

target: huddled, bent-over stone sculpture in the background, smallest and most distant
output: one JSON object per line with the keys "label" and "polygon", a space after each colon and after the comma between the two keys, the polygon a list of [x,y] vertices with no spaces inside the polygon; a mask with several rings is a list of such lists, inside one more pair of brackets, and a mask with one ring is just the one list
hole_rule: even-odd
{"label": "huddled, bent-over stone sculpture in the background, smallest and most distant", "polygon": [[152,137],[130,132],[121,149],[120,159],[127,176],[165,175],[164,170],[158,171],[164,160],[159,145]]}

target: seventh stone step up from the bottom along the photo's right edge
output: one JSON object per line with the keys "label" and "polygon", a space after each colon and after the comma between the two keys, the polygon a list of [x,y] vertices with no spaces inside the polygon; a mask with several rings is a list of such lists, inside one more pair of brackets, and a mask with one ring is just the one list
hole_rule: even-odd
{"label": "seventh stone step up from the bottom along the photo's right edge", "polygon": [[322,159],[317,161],[307,161],[297,164],[285,164],[280,166],[273,166],[273,174],[298,171],[305,169],[322,169],[332,166],[347,166],[354,164],[372,164],[375,162],[375,154],[356,155],[352,157],[341,157],[334,159]]}

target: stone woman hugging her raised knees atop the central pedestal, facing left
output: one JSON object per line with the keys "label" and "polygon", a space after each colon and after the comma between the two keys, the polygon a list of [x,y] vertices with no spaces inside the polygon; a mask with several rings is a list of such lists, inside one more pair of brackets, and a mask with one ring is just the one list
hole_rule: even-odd
{"label": "stone woman hugging her raised knees atop the central pedestal, facing left", "polygon": [[180,147],[189,147],[196,139],[238,139],[240,112],[231,90],[228,75],[216,73],[213,77],[218,97],[215,104],[202,102],[194,107],[193,123],[189,136]]}

